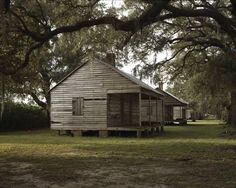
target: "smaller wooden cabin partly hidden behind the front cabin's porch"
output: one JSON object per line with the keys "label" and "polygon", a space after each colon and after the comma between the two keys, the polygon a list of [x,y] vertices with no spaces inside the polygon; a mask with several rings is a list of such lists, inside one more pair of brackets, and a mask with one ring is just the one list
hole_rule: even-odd
{"label": "smaller wooden cabin partly hidden behind the front cabin's porch", "polygon": [[162,85],[156,90],[164,95],[164,122],[166,125],[174,123],[187,124],[187,106],[188,102],[164,91]]}

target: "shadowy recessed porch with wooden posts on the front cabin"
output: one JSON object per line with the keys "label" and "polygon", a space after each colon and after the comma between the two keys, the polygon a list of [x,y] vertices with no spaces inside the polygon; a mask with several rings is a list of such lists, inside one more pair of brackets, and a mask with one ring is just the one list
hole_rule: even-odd
{"label": "shadowy recessed porch with wooden posts on the front cabin", "polygon": [[107,95],[107,130],[137,131],[143,133],[159,133],[163,131],[163,100],[155,93],[122,93]]}

